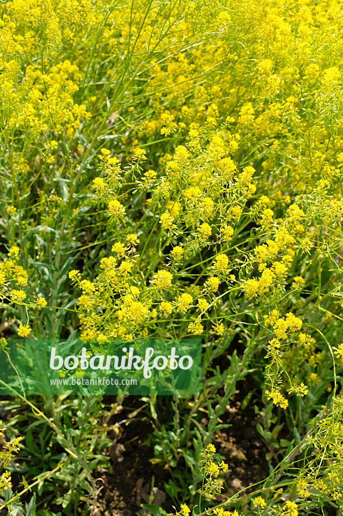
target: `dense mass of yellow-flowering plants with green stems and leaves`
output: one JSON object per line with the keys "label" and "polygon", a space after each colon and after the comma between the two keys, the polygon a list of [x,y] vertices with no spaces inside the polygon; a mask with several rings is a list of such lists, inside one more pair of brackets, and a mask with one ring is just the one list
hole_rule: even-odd
{"label": "dense mass of yellow-flowering plants with green stems and leaves", "polygon": [[[203,392],[167,413],[142,400],[184,516],[204,497],[217,516],[342,503],[341,12],[338,0],[2,2],[1,330],[94,348],[201,336]],[[244,379],[270,476],[255,505],[237,493],[215,508],[211,441]],[[93,510],[122,398],[107,410],[23,394],[6,425],[24,461],[4,467],[29,475],[25,510]],[[7,492],[19,514],[20,491]]]}

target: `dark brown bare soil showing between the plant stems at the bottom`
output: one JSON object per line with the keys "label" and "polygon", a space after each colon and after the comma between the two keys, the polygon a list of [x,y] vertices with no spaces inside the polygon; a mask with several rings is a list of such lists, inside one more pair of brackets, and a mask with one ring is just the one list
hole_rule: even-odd
{"label": "dark brown bare soil showing between the plant stems at the bottom", "polygon": [[[217,503],[224,502],[225,496],[248,488],[269,474],[266,454],[270,450],[256,430],[257,418],[254,410],[249,407],[244,411],[240,409],[241,400],[246,394],[245,382],[240,383],[242,385],[238,384],[236,394],[221,416],[222,422],[231,426],[216,432],[212,439],[217,452],[224,457],[229,467],[223,477],[222,494],[215,498]],[[141,516],[147,511],[142,510],[140,504],[149,503],[149,494],[150,503],[161,506],[167,513],[174,512],[175,504],[165,494],[164,488],[164,482],[168,482],[170,473],[159,464],[149,461],[154,458],[153,447],[143,444],[151,432],[150,423],[137,419],[126,426],[128,414],[143,404],[138,397],[131,396],[129,400],[131,406],[123,408],[111,422],[112,425],[119,426],[120,433],[108,450],[113,474],[105,470],[97,474],[102,479],[103,488],[99,494],[100,507],[96,510],[96,516]],[[120,421],[124,423],[120,424]],[[206,418],[201,423],[206,427]],[[252,490],[247,489],[246,493]],[[154,499],[151,502],[152,498]]]}

